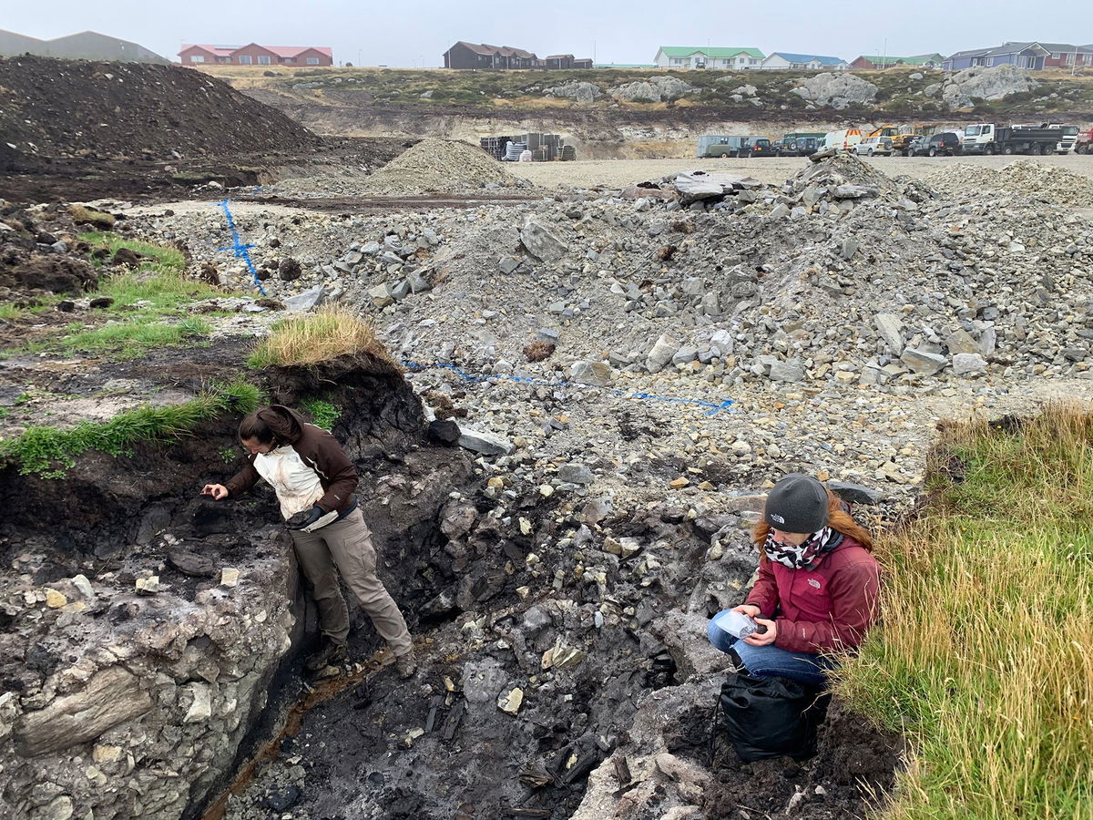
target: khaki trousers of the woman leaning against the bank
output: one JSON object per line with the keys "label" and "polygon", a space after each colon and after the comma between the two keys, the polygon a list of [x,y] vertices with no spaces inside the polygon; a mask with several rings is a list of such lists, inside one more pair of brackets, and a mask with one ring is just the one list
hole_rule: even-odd
{"label": "khaki trousers of the woman leaning against the bank", "polygon": [[360,507],[315,532],[290,531],[296,560],[312,584],[319,607],[322,633],[337,644],[344,644],[349,636],[349,609],[338,586],[338,573],[341,573],[345,586],[391,651],[396,655],[410,652],[407,622],[383,582],[376,577],[376,550]]}

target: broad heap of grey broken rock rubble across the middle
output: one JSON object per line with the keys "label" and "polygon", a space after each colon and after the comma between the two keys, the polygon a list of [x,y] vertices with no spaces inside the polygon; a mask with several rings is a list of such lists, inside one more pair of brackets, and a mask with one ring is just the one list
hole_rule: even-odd
{"label": "broad heap of grey broken rock rubble across the middle", "polygon": [[[818,159],[779,187],[679,174],[626,196],[282,218],[255,254],[265,266],[294,248],[309,272],[289,290],[360,305],[403,359],[498,375],[896,391],[1090,376],[1079,215],[1008,194],[953,202],[850,155]],[[527,360],[536,340],[550,358]]]}

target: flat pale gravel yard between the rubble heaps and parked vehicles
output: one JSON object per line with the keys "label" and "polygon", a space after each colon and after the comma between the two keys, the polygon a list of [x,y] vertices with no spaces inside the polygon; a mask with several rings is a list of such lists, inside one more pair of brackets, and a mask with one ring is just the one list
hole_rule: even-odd
{"label": "flat pale gravel yard between the rubble heaps and parked vehicles", "polygon": [[[937,173],[947,165],[971,163],[1001,168],[1020,156],[936,156],[936,157],[874,157],[868,162],[877,165],[889,176],[907,174],[924,178]],[[1047,165],[1059,165],[1076,173],[1093,177],[1093,156],[1066,154],[1062,156],[1038,156],[1038,162]],[[544,188],[578,187],[591,188],[602,185],[611,188],[622,188],[631,183],[645,179],[659,179],[678,171],[722,171],[738,174],[750,174],[763,183],[777,185],[792,176],[802,165],[808,164],[806,157],[768,157],[752,160],[588,160],[578,162],[536,162],[512,163],[513,174],[530,179]]]}

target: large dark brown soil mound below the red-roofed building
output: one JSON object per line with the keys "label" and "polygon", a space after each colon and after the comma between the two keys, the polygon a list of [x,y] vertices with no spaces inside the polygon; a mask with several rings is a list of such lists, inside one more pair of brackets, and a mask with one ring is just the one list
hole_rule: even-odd
{"label": "large dark brown soil mound below the red-roofed building", "polygon": [[0,132],[35,157],[164,159],[301,151],[317,138],[198,71],[148,63],[0,59]]}

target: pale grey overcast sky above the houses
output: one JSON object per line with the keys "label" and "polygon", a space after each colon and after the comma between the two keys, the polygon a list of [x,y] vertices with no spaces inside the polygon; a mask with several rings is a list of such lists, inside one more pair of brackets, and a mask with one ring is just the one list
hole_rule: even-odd
{"label": "pale grey overcast sky above the houses", "polygon": [[[513,11],[519,8],[520,11]],[[330,46],[337,62],[436,67],[456,40],[597,62],[651,62],[657,47],[754,46],[853,60],[949,55],[1004,40],[1093,43],[1093,3],[1029,0],[0,0],[0,28],[33,37],[93,30],[177,60],[183,43]],[[843,11],[847,9],[848,11]],[[595,49],[595,54],[593,54]]]}

